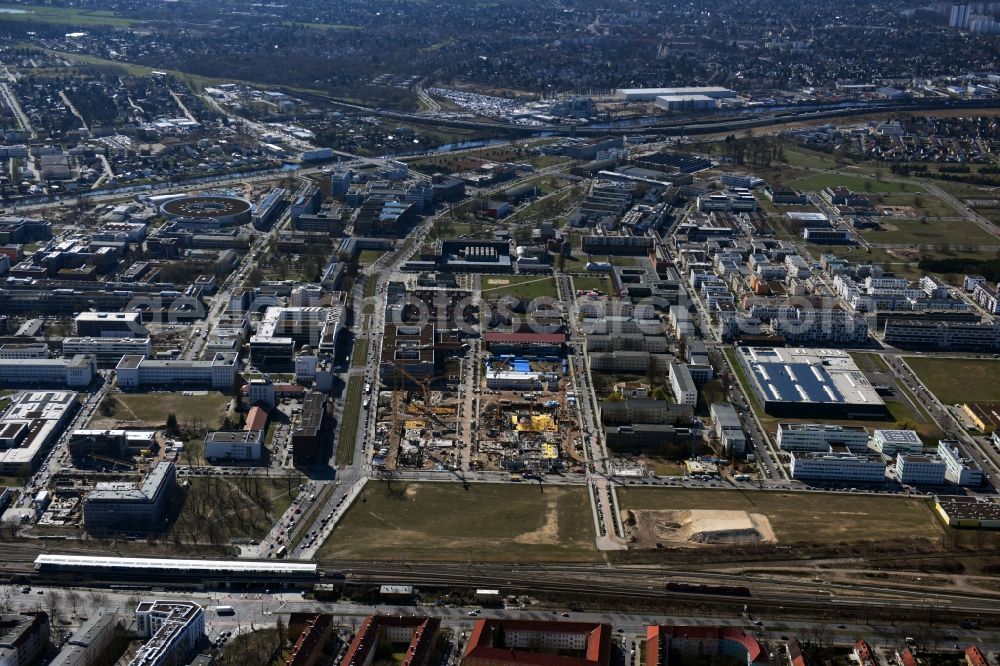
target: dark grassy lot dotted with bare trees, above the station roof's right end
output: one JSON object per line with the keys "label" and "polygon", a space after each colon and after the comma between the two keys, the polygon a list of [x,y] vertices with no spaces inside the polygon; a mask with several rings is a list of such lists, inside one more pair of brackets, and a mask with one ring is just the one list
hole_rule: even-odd
{"label": "dark grassy lot dotted with bare trees, above the station roof's right end", "polygon": [[261,477],[194,477],[170,528],[185,540],[217,545],[260,539],[298,494],[299,480]]}

